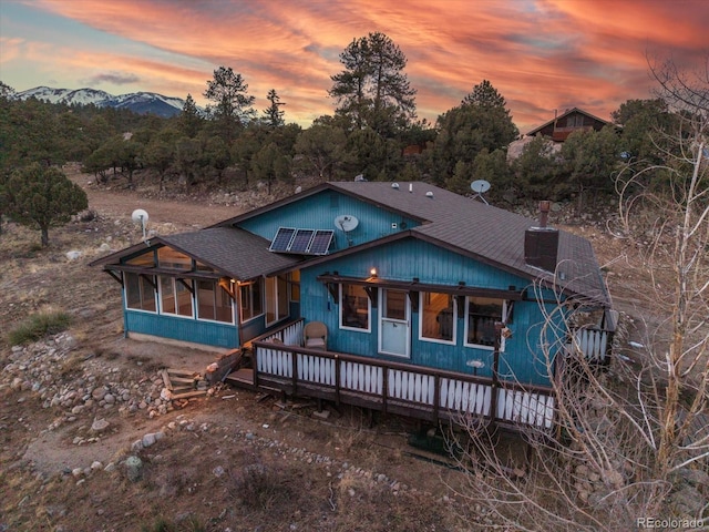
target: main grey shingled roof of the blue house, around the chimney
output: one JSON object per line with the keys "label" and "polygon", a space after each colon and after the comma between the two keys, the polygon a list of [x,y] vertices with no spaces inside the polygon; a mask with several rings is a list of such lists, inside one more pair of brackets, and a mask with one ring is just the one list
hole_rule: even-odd
{"label": "main grey shingled roof of the blue house, around the chimney", "polygon": [[[419,218],[422,224],[409,229],[408,234],[411,236],[433,242],[530,280],[554,285],[567,294],[580,295],[593,303],[609,306],[598,263],[586,238],[559,231],[558,266],[555,276],[553,273],[530,266],[524,260],[524,234],[527,228],[537,226],[537,221],[428,183],[400,183],[399,187],[395,187],[388,182],[330,182],[222,224],[238,225],[239,221],[249,218],[255,213],[271,211],[328,188],[388,211]],[[382,244],[386,241],[387,238],[383,238]],[[377,243],[368,244],[372,245]],[[308,264],[356,253],[358,247],[311,259]]]}

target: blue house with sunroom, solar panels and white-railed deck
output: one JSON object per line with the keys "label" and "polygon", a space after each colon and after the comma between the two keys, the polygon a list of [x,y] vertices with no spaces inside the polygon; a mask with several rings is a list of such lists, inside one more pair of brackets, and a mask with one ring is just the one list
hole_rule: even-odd
{"label": "blue house with sunroom, solar panels and white-railed deck", "polygon": [[92,265],[121,283],[127,336],[242,348],[240,386],[551,428],[558,355],[604,361],[610,347],[607,319],[566,318],[610,301],[589,242],[547,212],[427,183],[325,183]]}

